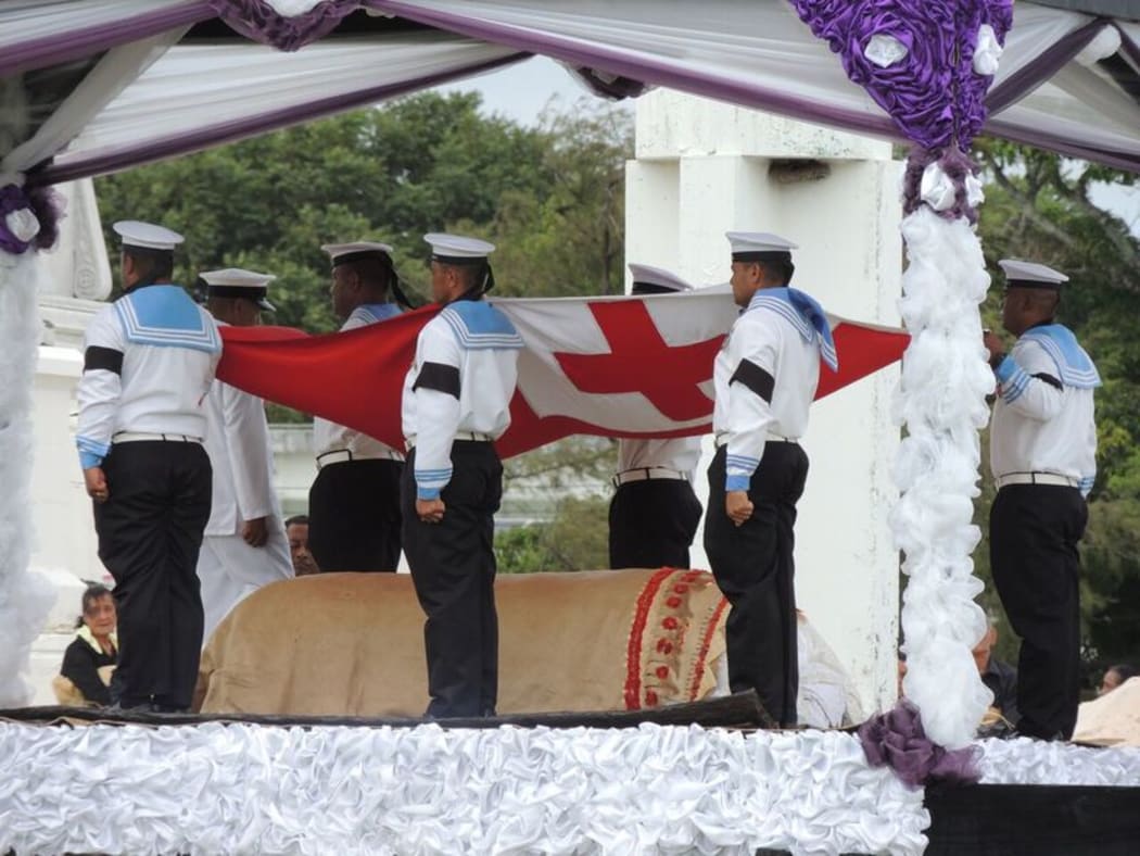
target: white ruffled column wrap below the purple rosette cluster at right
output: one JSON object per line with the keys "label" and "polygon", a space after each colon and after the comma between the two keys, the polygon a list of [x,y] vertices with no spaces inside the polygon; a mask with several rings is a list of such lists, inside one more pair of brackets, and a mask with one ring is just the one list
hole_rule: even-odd
{"label": "white ruffled column wrap below the purple rosette cluster at right", "polygon": [[994,388],[978,305],[990,285],[982,245],[964,218],[927,205],[902,224],[909,266],[899,312],[912,341],[903,357],[895,414],[906,437],[895,462],[902,496],[891,515],[905,552],[903,592],[906,697],[927,736],[947,749],[974,737],[992,694],[970,649],[985,632],[970,558],[980,459],[978,430]]}

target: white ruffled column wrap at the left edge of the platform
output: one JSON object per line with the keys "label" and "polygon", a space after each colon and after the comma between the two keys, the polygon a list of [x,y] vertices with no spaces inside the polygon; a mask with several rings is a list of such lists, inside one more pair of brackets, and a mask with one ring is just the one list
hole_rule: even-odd
{"label": "white ruffled column wrap at the left edge of the platform", "polygon": [[[35,252],[0,250],[0,708],[32,698],[27,669],[55,590],[32,573],[32,390],[40,345]],[[15,769],[15,768],[8,768]]]}

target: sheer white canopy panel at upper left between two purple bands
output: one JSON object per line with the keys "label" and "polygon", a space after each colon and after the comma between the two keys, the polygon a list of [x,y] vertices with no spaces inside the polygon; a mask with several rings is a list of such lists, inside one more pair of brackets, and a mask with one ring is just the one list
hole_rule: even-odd
{"label": "sheer white canopy panel at upper left between two purple bands", "polygon": [[[105,172],[233,142],[524,58],[441,32],[317,42],[172,48],[99,111],[56,159],[57,175]],[[241,86],[234,86],[241,81]],[[141,156],[138,156],[141,155]]]}

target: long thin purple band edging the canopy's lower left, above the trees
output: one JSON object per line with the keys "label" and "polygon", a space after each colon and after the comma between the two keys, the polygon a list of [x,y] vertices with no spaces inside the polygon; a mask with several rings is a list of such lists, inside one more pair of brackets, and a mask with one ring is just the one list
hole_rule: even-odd
{"label": "long thin purple band edging the canopy's lower left, above the trees", "polygon": [[222,145],[225,143],[234,143],[239,139],[245,139],[246,137],[256,136],[258,134],[264,134],[279,128],[300,124],[301,122],[308,122],[312,119],[320,119],[323,116],[341,113],[345,110],[351,110],[352,107],[363,107],[368,104],[375,104],[376,102],[384,100],[385,98],[394,98],[396,96],[407,95],[408,92],[415,92],[420,89],[440,86],[441,83],[448,83],[453,80],[466,78],[471,74],[492,71],[495,68],[510,65],[511,63],[526,59],[529,56],[529,54],[512,54],[511,56],[502,57],[499,59],[465,65],[450,71],[415,78],[414,80],[385,83],[384,86],[373,87],[370,89],[345,92],[331,98],[321,98],[316,102],[298,104],[284,110],[274,111],[272,113],[235,119],[223,124],[205,128],[201,131],[179,134],[164,139],[153,140],[138,148],[116,151],[101,155],[96,154],[91,158],[81,160],[78,159],[73,162],[59,165],[49,164],[42,170],[30,175],[27,180],[30,184],[34,183],[36,185],[48,185],[58,184],[60,181],[71,181],[76,178],[85,178],[87,176],[116,172],[122,169],[128,169],[129,167],[137,167],[142,163],[149,163],[150,161],[163,160],[164,158],[189,154],[190,152],[197,152],[211,146]]}

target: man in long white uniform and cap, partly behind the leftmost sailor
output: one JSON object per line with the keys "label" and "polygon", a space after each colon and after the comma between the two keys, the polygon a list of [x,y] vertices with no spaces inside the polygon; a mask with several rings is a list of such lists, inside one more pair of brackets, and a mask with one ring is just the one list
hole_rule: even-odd
{"label": "man in long white uniform and cap, partly behind the leftmost sailor", "polygon": [[[253,326],[275,277],[226,268],[202,274],[206,308],[219,324]],[[293,562],[274,491],[269,423],[260,398],[215,381],[206,396],[205,447],[213,466],[213,498],[198,554],[205,612],[203,645],[239,600],[293,576]]]}

